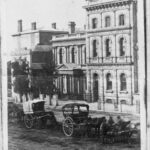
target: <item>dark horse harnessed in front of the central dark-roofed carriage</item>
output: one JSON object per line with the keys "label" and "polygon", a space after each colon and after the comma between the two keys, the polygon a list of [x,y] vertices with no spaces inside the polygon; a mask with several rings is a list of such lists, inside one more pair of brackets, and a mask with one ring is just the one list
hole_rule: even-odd
{"label": "dark horse harnessed in front of the central dark-roofed carriage", "polygon": [[92,128],[95,129],[95,135],[99,137],[100,135],[100,126],[103,121],[106,120],[105,117],[101,118],[88,118],[88,136],[91,134]]}

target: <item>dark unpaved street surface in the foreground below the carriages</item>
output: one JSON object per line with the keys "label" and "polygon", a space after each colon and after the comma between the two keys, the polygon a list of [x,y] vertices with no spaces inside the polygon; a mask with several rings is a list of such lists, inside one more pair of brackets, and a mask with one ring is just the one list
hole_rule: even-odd
{"label": "dark unpaved street surface in the foreground below the carriages", "polygon": [[[61,112],[55,112],[62,120]],[[132,144],[102,144],[100,139],[65,137],[61,127],[47,129],[26,129],[14,119],[8,125],[9,150],[140,150],[139,142]]]}

